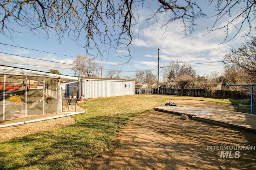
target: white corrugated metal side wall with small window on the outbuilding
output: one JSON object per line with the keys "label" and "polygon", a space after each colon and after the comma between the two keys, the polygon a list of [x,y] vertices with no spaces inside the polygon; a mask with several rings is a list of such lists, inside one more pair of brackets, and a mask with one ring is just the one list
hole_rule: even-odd
{"label": "white corrugated metal side wall with small window on the outbuilding", "polygon": [[81,90],[85,98],[126,96],[134,94],[134,82],[83,79]]}

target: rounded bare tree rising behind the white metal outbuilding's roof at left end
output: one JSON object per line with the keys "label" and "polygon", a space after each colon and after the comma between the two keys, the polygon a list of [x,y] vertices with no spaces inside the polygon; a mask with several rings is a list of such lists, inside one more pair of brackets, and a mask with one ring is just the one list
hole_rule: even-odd
{"label": "rounded bare tree rising behind the white metal outbuilding's roof at left end", "polygon": [[72,64],[75,76],[98,77],[101,68],[96,61],[88,59],[86,55],[77,55]]}

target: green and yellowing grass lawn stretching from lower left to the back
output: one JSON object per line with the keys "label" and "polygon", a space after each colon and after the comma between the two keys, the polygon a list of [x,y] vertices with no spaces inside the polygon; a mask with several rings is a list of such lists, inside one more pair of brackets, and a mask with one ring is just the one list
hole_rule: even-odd
{"label": "green and yellowing grass lawn stretching from lower left to the back", "polygon": [[[135,95],[89,100],[81,107],[87,114],[74,115],[77,123],[0,143],[0,169],[70,170],[83,168],[91,157],[118,144],[114,135],[128,119],[152,111],[165,100],[188,99],[231,104],[230,100],[170,95]],[[142,124],[141,124],[142,125]],[[143,125],[142,125],[143,126]],[[118,145],[117,145],[118,146]]]}

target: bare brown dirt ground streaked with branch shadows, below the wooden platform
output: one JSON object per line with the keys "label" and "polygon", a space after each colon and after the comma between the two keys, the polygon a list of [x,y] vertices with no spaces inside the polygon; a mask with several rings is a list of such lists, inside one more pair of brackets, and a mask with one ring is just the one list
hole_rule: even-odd
{"label": "bare brown dirt ground streaked with branch shadows, below the wooden platform", "polygon": [[88,162],[86,169],[98,170],[250,170],[256,167],[255,150],[231,151],[230,158],[220,158],[221,151],[207,146],[254,146],[256,134],[195,120],[180,115],[153,111],[132,119],[116,137],[118,144]]}

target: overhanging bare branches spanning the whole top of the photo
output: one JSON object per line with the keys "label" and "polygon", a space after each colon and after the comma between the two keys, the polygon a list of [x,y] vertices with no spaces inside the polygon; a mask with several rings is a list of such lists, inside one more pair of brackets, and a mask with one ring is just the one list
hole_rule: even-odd
{"label": "overhanging bare branches spanning the whole top of the photo", "polygon": [[[190,35],[196,26],[195,20],[206,16],[196,0],[158,0],[157,9],[148,17],[148,21],[167,18],[162,28],[167,29],[172,21],[181,20],[185,35]],[[86,55],[104,56],[114,48],[126,49],[131,59],[130,45],[138,37],[134,25],[140,24],[138,9],[145,8],[146,3],[152,7],[152,0],[1,0],[0,27],[1,34],[12,38],[14,32],[43,33],[46,38],[55,32],[58,40],[68,37],[74,41],[84,40],[79,44],[85,48]],[[217,12],[216,21],[209,32],[226,29],[226,38],[230,35],[230,26],[234,25],[236,36],[243,27],[252,28],[255,15],[254,0],[208,0],[206,4],[214,5]],[[147,8],[148,9],[148,8]],[[238,11],[232,16],[233,11]],[[216,26],[224,16],[230,17],[228,23]],[[236,22],[242,18],[240,25]],[[20,27],[14,29],[13,25]],[[21,29],[25,28],[25,29]],[[251,30],[247,33],[249,35]],[[97,52],[94,55],[95,51]],[[120,53],[117,53],[121,55]]]}

